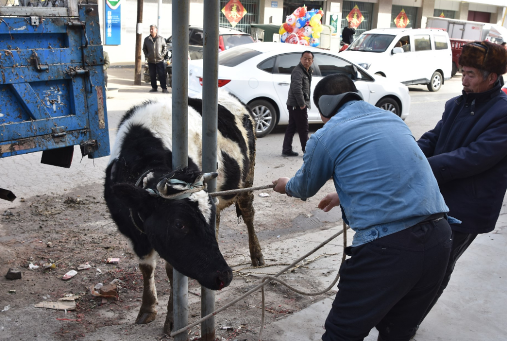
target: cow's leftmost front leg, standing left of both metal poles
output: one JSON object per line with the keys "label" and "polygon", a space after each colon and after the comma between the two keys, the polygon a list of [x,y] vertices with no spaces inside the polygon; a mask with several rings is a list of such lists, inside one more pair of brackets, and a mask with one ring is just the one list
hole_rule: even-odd
{"label": "cow's leftmost front leg, standing left of both metal poles", "polygon": [[142,304],[139,314],[135,319],[135,324],[146,324],[155,320],[157,310],[155,306],[157,301],[157,289],[155,288],[155,266],[157,265],[157,253],[155,250],[142,257],[139,260],[139,270],[142,274],[143,291],[142,291]]}

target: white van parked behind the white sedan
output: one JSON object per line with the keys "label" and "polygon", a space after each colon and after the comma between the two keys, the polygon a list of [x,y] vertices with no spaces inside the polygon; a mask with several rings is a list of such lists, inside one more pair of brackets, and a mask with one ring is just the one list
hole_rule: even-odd
{"label": "white van parked behind the white sedan", "polygon": [[427,84],[439,91],[451,78],[449,35],[440,29],[379,28],[361,34],[343,57],[368,70],[405,85]]}

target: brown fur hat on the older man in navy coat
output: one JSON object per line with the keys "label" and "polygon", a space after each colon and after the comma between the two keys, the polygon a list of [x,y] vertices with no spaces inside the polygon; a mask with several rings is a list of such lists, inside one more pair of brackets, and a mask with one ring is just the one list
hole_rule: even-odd
{"label": "brown fur hat on the older man in navy coat", "polygon": [[507,50],[501,45],[487,41],[468,43],[463,45],[459,64],[504,74],[507,71]]}

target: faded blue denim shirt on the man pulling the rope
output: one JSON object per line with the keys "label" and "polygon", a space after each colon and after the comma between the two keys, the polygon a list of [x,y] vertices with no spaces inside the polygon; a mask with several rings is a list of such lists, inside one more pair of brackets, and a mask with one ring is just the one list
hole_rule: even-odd
{"label": "faded blue denim shirt on the man pulling the rope", "polygon": [[431,167],[407,125],[365,101],[345,103],[311,135],[288,195],[314,196],[331,176],[352,246],[449,211]]}

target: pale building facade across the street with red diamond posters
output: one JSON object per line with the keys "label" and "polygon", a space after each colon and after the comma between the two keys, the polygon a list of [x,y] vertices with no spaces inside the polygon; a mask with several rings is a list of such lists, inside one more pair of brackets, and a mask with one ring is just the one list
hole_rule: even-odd
{"label": "pale building facade across the street with red diamond posters", "polygon": [[[109,53],[111,63],[133,63],[135,57],[135,33],[139,29],[143,38],[150,34],[150,24],[156,24],[158,19],[158,1],[144,0],[143,24],[136,26],[137,0],[121,1],[121,44],[108,45],[104,49]],[[220,0],[220,9],[223,9],[230,0]],[[238,1],[238,0],[236,0]],[[361,33],[372,28],[396,27],[395,19],[406,21],[408,28],[426,27],[426,18],[430,16],[444,16],[446,18],[489,22],[507,27],[505,9],[507,0],[475,0],[476,2],[453,0],[324,0],[324,1],[298,1],[298,0],[239,0],[246,10],[246,14],[235,26],[249,32],[251,23],[282,24],[285,17],[296,8],[306,5],[308,9],[322,9],[323,24],[331,24],[332,18],[337,21],[337,33],[332,37],[332,52],[338,52],[340,33],[346,26],[347,15],[357,6],[362,21],[357,27]],[[101,27],[105,34],[107,25],[104,0],[99,0],[102,13]],[[402,12],[403,11],[403,12]],[[204,20],[203,0],[190,1],[190,24],[202,26]],[[168,37],[172,27],[172,1],[162,0],[159,34]],[[232,27],[227,17],[220,12],[220,25]]]}

